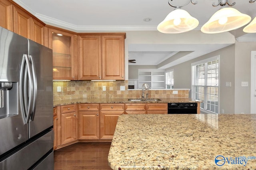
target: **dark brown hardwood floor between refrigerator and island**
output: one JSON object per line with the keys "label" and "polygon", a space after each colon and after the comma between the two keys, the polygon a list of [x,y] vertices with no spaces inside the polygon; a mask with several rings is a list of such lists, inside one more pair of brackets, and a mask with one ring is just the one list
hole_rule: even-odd
{"label": "dark brown hardwood floor between refrigerator and island", "polygon": [[108,166],[111,143],[75,143],[54,151],[54,170],[112,170]]}

